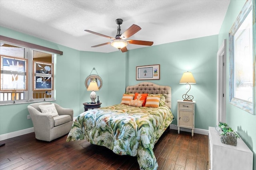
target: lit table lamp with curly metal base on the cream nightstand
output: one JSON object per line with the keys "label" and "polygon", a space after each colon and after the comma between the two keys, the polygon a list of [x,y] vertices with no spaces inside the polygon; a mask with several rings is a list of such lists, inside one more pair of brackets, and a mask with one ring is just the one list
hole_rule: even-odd
{"label": "lit table lamp with curly metal base on the cream nightstand", "polygon": [[[191,88],[190,84],[196,84],[196,80],[194,79],[192,72],[189,72],[189,71],[184,72],[180,79],[180,84],[186,84],[186,85],[189,84],[189,90],[190,90]],[[186,94],[182,95],[183,101],[192,102],[192,100],[194,99],[194,96],[187,94],[189,90],[186,92]]]}

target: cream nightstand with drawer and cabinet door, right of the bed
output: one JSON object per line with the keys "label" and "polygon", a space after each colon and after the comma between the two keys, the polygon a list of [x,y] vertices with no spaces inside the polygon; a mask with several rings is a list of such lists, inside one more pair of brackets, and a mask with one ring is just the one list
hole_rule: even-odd
{"label": "cream nightstand with drawer and cabinet door, right of the bed", "polygon": [[195,121],[195,103],[196,101],[186,102],[178,100],[178,134],[180,134],[180,127],[192,129],[192,136],[194,136],[194,121]]}

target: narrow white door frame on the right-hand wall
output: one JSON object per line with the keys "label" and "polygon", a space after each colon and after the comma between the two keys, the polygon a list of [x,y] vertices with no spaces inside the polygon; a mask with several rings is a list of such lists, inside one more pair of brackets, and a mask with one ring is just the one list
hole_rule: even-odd
{"label": "narrow white door frame on the right-hand wall", "polygon": [[217,122],[226,122],[226,39],[217,52]]}

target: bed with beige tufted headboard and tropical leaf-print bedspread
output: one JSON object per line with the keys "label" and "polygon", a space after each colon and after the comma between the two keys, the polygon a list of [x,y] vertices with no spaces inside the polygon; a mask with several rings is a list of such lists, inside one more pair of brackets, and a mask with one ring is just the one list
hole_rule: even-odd
{"label": "bed with beige tufted headboard and tropical leaf-print bedspread", "polygon": [[[140,94],[148,94],[146,107],[122,104],[124,96],[135,94],[137,98]],[[158,107],[150,103],[155,97],[162,99]],[[130,104],[131,101],[134,100],[130,100]],[[127,86],[122,102],[81,113],[73,122],[66,141],[86,139],[116,154],[137,156],[141,170],[156,170],[158,164],[153,152],[154,144],[173,120],[171,88],[151,82]]]}

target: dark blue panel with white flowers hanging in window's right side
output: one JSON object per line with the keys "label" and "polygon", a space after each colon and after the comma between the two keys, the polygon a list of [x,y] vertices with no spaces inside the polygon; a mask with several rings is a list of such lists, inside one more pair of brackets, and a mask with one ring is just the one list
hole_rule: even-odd
{"label": "dark blue panel with white flowers hanging in window's right side", "polygon": [[33,61],[33,90],[53,90],[53,63]]}

